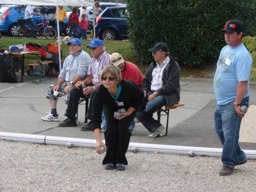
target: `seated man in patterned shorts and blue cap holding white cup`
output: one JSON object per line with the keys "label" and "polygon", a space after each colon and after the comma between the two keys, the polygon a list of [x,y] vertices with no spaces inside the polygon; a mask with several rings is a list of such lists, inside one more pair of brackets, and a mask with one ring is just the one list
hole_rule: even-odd
{"label": "seated man in patterned shorts and blue cap holding white cup", "polygon": [[[70,55],[64,60],[58,82],[49,85],[46,89],[46,98],[49,99],[52,109],[49,115],[41,117],[43,121],[60,121],[57,114],[58,98],[68,94],[71,88],[87,75],[91,57],[83,50],[82,42],[73,38],[67,45],[69,46]],[[59,93],[55,96],[54,92]]]}

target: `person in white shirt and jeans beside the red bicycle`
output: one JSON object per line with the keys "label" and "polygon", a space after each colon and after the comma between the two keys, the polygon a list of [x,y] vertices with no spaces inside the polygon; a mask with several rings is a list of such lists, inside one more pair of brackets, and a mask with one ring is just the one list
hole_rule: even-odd
{"label": "person in white shirt and jeans beside the red bicycle", "polygon": [[36,30],[36,24],[33,20],[33,15],[40,15],[40,13],[34,12],[34,9],[41,9],[42,7],[36,7],[32,5],[28,5],[25,9],[25,21],[30,26],[31,29],[31,36],[33,38],[36,38],[35,36],[35,30]]}

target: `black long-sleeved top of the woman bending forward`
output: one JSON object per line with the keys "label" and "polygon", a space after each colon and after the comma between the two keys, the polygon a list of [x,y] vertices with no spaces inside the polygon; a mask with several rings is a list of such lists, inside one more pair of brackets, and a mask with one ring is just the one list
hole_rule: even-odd
{"label": "black long-sleeved top of the woman bending forward", "polygon": [[123,106],[118,106],[118,103],[115,102],[108,92],[108,89],[104,87],[103,84],[95,90],[95,96],[92,101],[93,109],[91,120],[93,129],[100,128],[103,105],[110,108],[113,111],[113,115],[114,112],[120,108],[125,108],[127,110],[129,107],[133,107],[136,111],[138,110],[144,98],[143,91],[135,83],[129,80],[122,79],[120,85],[122,89],[117,100],[119,104],[123,102]]}

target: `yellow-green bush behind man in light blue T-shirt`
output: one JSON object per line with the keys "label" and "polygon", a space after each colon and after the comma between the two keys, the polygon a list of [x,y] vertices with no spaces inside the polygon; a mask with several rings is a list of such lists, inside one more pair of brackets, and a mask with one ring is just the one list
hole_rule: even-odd
{"label": "yellow-green bush behind man in light blue T-shirt", "polygon": [[256,81],[256,37],[247,36],[243,38],[243,44],[252,56],[252,71],[250,80]]}

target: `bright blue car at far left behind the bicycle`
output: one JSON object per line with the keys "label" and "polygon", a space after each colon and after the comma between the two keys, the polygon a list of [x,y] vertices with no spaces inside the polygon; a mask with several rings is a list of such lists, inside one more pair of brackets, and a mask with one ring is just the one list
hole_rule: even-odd
{"label": "bright blue car at far left behind the bicycle", "polygon": [[[19,18],[25,17],[26,6],[23,5],[4,5],[0,7],[0,32],[8,33],[11,36],[18,36],[19,25],[17,20]],[[39,12],[39,10],[34,9],[34,12]],[[33,15],[33,19],[37,24],[42,23],[41,19],[37,19],[38,15]],[[44,16],[45,19],[46,16]],[[65,24],[68,22],[68,17],[65,19]],[[56,22],[57,23],[57,22]],[[43,32],[43,28],[40,32]],[[60,28],[60,31],[62,29]]]}

